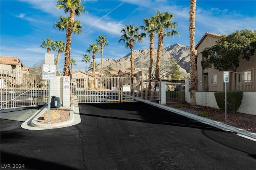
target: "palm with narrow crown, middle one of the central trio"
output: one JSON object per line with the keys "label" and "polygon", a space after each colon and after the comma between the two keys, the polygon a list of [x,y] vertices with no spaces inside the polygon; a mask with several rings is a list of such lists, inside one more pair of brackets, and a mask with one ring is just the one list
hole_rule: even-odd
{"label": "palm with narrow crown, middle one of the central trio", "polygon": [[145,26],[142,26],[144,31],[149,34],[149,69],[148,69],[148,75],[149,79],[152,78],[152,65],[154,60],[154,40],[155,40],[155,33],[156,33],[156,17],[152,15],[150,18],[144,18],[144,24]]}

